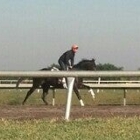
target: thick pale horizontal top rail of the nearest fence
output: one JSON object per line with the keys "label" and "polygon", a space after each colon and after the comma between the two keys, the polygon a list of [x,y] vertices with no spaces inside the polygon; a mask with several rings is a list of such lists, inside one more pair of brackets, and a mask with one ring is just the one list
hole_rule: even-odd
{"label": "thick pale horizontal top rail of the nearest fence", "polygon": [[140,71],[0,71],[0,77],[140,77]]}

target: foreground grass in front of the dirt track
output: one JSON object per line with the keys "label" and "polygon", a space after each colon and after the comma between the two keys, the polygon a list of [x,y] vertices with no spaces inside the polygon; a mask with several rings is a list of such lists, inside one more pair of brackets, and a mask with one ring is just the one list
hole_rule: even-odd
{"label": "foreground grass in front of the dirt track", "polygon": [[140,118],[0,120],[0,140],[139,140]]}

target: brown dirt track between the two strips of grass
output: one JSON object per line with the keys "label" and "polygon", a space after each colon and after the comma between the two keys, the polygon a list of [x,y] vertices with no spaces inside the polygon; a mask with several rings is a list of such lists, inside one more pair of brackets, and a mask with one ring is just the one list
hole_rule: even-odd
{"label": "brown dirt track between the two strips of grass", "polygon": [[[63,119],[65,106],[25,105],[0,106],[0,118],[5,119]],[[87,117],[140,116],[140,106],[72,106],[71,119]]]}

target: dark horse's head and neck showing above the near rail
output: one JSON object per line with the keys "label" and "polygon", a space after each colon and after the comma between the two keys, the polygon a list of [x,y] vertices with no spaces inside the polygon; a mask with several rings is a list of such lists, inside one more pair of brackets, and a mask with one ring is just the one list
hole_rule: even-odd
{"label": "dark horse's head and neck showing above the near rail", "polygon": [[96,70],[95,59],[91,59],[91,60],[83,59],[78,64],[74,65],[74,69],[79,69],[79,70]]}

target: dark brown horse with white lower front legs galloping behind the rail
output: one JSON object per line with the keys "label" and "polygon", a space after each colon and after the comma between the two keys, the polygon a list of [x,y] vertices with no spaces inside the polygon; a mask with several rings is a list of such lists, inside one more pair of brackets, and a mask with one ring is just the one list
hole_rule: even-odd
{"label": "dark brown horse with white lower front legs galloping behind the rail", "polygon": [[[49,71],[49,70],[51,70],[51,69],[50,68],[41,69],[41,71]],[[79,63],[75,64],[71,70],[72,71],[74,71],[74,70],[84,70],[84,71],[96,70],[95,59],[91,59],[91,60],[83,59]],[[22,78],[19,78],[19,80],[17,81],[16,87],[19,86],[19,84],[21,83],[22,80],[23,80]],[[84,106],[84,103],[82,101],[82,98],[81,98],[81,96],[79,94],[79,90],[78,90],[78,88],[80,88],[81,86],[83,86],[82,78],[75,78],[73,90],[74,90],[77,98],[79,99],[81,106]],[[59,78],[59,77],[56,77],[56,78],[55,77],[33,78],[32,87],[27,92],[22,104],[24,105],[26,100],[28,99],[28,97],[36,89],[38,89],[40,87],[43,89],[42,100],[46,105],[48,105],[48,102],[46,101],[45,98],[46,98],[48,91],[51,87],[53,89],[64,88],[62,78]]]}

